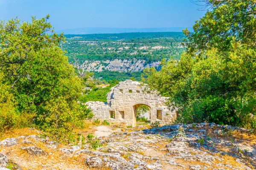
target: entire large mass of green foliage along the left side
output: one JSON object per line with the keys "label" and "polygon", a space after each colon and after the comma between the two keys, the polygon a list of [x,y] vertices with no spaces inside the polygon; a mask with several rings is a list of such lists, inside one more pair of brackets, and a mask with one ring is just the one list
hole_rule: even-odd
{"label": "entire large mass of green foliage along the left side", "polygon": [[81,80],[58,47],[63,35],[53,33],[48,19],[0,21],[1,88],[9,93],[0,105],[4,114],[12,114],[10,125],[19,115],[23,125],[33,123],[51,138],[67,142],[90,110],[77,103]]}

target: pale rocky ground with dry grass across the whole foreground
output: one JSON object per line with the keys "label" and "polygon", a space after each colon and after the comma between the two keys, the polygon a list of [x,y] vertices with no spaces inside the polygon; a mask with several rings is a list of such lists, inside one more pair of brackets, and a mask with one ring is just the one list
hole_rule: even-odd
{"label": "pale rocky ground with dry grass across the whole foreground", "polygon": [[[86,130],[85,130],[86,131]],[[253,170],[256,136],[215,124],[90,128],[99,145],[64,146],[26,130],[0,141],[0,170]],[[29,134],[30,133],[30,134]],[[38,135],[36,135],[38,133]],[[31,135],[32,134],[32,135]],[[1,168],[2,166],[2,168]]]}

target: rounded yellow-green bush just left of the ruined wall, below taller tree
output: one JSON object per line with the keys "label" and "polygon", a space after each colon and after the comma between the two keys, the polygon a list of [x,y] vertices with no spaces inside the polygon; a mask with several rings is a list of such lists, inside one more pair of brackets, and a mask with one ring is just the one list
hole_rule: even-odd
{"label": "rounded yellow-green bush just left of the ruined wall, below taller tree", "polygon": [[90,109],[85,105],[78,105],[75,101],[68,103],[63,97],[59,97],[46,102],[37,121],[45,135],[57,142],[70,143],[73,129],[82,128],[88,115]]}

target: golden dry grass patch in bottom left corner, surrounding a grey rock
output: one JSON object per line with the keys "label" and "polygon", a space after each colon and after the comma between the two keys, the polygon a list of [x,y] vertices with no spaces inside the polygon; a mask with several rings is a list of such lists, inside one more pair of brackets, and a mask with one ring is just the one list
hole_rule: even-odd
{"label": "golden dry grass patch in bottom left corner, surrounding a grey rock", "polygon": [[[32,144],[22,144],[21,141],[13,147],[2,147],[0,152],[5,153],[10,160],[19,164],[23,170],[33,169],[41,170],[42,166],[51,166],[57,170],[66,169],[66,167],[84,168],[84,160],[81,156],[67,156],[60,150],[60,146],[56,149],[47,147],[43,142],[36,142],[35,139],[29,139]],[[20,149],[20,147],[37,146],[47,153],[47,156],[33,156],[26,152],[26,150]],[[15,150],[15,152],[13,152]]]}

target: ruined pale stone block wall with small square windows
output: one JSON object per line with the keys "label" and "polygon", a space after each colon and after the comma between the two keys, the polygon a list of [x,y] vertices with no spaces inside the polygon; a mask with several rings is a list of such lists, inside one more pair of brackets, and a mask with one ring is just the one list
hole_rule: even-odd
{"label": "ruined pale stone block wall with small square windows", "polygon": [[111,88],[107,95],[107,102],[87,102],[96,119],[107,119],[109,122],[124,122],[127,125],[136,126],[136,110],[140,105],[150,108],[150,121],[160,121],[160,124],[172,122],[175,111],[166,106],[166,97],[155,93],[149,94],[143,91],[139,82],[125,80]]}

